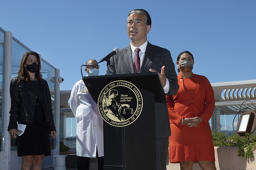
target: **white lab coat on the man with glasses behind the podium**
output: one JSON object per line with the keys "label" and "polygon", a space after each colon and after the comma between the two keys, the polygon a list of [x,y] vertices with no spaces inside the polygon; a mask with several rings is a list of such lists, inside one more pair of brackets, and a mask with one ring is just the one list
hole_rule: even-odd
{"label": "white lab coat on the man with glasses behind the podium", "polygon": [[76,117],[76,155],[95,158],[98,148],[98,156],[104,156],[103,119],[83,80],[71,91],[70,108]]}

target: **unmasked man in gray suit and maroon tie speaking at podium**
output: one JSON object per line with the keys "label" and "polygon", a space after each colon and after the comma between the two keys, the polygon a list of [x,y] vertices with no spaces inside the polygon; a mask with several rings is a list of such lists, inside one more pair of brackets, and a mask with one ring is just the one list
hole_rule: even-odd
{"label": "unmasked man in gray suit and maroon tie speaking at podium", "polygon": [[[157,71],[166,95],[174,95],[177,93],[179,85],[171,53],[169,50],[152,45],[147,41],[150,28],[151,18],[147,11],[132,10],[128,14],[127,34],[131,43],[128,47],[121,49],[118,55],[110,58],[110,74]],[[168,157],[168,140],[171,135],[167,104],[155,103],[155,114],[156,166],[157,170],[165,170],[166,158]]]}

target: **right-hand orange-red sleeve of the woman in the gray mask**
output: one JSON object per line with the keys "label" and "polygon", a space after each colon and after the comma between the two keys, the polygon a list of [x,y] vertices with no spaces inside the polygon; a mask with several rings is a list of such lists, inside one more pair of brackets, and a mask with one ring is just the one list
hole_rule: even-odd
{"label": "right-hand orange-red sleeve of the woman in the gray mask", "polygon": [[206,95],[205,95],[205,109],[201,115],[199,115],[204,122],[203,124],[206,124],[209,122],[209,120],[212,117],[214,108],[215,108],[215,100],[214,100],[214,91],[212,89],[212,85],[209,82],[207,78],[204,80],[205,82],[205,89],[206,89]]}

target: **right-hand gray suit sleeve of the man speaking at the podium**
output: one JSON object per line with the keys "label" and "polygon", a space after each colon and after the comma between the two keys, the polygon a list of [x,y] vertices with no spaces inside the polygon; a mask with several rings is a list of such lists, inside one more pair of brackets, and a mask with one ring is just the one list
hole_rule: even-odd
{"label": "right-hand gray suit sleeve of the man speaking at the podium", "polygon": [[178,80],[177,80],[177,74],[175,71],[174,63],[172,61],[171,53],[169,50],[166,51],[164,55],[164,72],[165,72],[165,77],[169,81],[169,92],[166,93],[168,96],[172,96],[176,94],[179,90],[179,85],[178,85]]}

